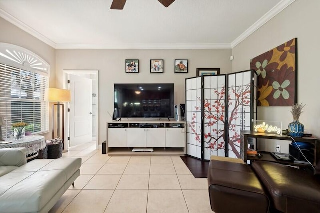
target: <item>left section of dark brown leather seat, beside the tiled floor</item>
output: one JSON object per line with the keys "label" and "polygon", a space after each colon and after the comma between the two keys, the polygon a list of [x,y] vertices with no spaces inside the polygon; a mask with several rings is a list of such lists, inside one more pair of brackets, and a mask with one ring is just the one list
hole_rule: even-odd
{"label": "left section of dark brown leather seat, beside the tiled floor", "polygon": [[214,212],[268,212],[269,199],[247,164],[211,160],[208,187]]}

